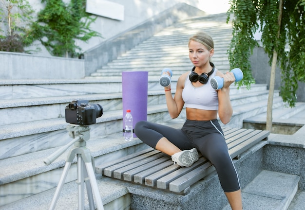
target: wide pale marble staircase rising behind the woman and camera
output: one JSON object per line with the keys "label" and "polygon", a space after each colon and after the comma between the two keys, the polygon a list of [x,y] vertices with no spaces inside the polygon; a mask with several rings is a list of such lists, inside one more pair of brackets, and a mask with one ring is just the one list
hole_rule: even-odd
{"label": "wide pale marble staircase rising behind the woman and camera", "polygon": [[[205,31],[214,38],[212,61],[219,70],[228,71],[226,52],[231,28],[226,24],[226,15],[221,14],[173,24],[83,80],[0,81],[0,209],[49,207],[68,151],[48,166],[43,160],[72,140],[66,130],[64,109],[74,99],[86,99],[104,109],[103,116],[90,125],[91,139],[87,142],[95,164],[147,148],[138,139],[124,141],[121,72],[149,71],[148,120],[169,124],[171,119],[158,78],[163,68],[171,68],[172,93],[175,92],[178,76],[191,70],[188,38],[197,31]],[[232,85],[230,94],[234,113],[231,122],[223,126],[241,128],[243,119],[267,110],[266,85],[252,85],[250,90]],[[283,106],[278,92],[273,106],[274,109]],[[172,126],[181,126],[184,119],[182,112],[171,121]],[[76,164],[73,164],[58,209],[77,208],[76,178]],[[105,209],[130,208],[131,194],[126,187],[99,176],[97,182]]]}

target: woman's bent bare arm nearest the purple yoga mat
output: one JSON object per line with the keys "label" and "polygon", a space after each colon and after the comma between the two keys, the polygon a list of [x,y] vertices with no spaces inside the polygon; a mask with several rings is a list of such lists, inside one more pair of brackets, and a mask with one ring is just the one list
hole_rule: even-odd
{"label": "woman's bent bare arm nearest the purple yoga mat", "polygon": [[[177,118],[179,116],[179,114],[184,106],[184,101],[182,99],[182,90],[184,88],[184,81],[185,81],[187,75],[188,75],[188,72],[182,74],[179,77],[179,79],[177,81],[176,93],[174,95],[174,98],[172,98],[171,91],[165,91],[166,104],[167,104],[167,108],[169,110],[169,113],[170,113],[170,116],[172,119]],[[170,89],[170,87],[168,87],[166,89]]]}

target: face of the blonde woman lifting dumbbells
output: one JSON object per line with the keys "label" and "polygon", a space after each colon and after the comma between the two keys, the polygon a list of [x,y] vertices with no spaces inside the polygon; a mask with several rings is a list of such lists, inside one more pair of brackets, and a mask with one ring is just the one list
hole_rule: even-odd
{"label": "face of the blonde woman lifting dumbbells", "polygon": [[203,67],[210,62],[210,57],[213,56],[214,49],[210,51],[203,44],[191,40],[189,43],[189,57],[195,67]]}

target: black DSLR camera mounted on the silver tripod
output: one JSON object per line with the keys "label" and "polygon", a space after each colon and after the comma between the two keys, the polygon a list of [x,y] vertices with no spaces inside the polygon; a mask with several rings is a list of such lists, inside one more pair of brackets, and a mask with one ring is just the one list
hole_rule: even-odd
{"label": "black DSLR camera mounted on the silver tripod", "polygon": [[99,104],[89,105],[88,100],[74,100],[66,106],[67,123],[90,125],[102,115],[103,107]]}

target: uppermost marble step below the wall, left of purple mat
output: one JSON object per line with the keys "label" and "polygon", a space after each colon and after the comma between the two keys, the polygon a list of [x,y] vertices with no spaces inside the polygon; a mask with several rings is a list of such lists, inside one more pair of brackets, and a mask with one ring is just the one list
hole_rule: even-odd
{"label": "uppermost marble step below the wall, left of purple mat", "polygon": [[[111,83],[111,87],[109,84]],[[0,80],[0,98],[31,99],[53,96],[115,93],[122,91],[121,77],[80,80]]]}

